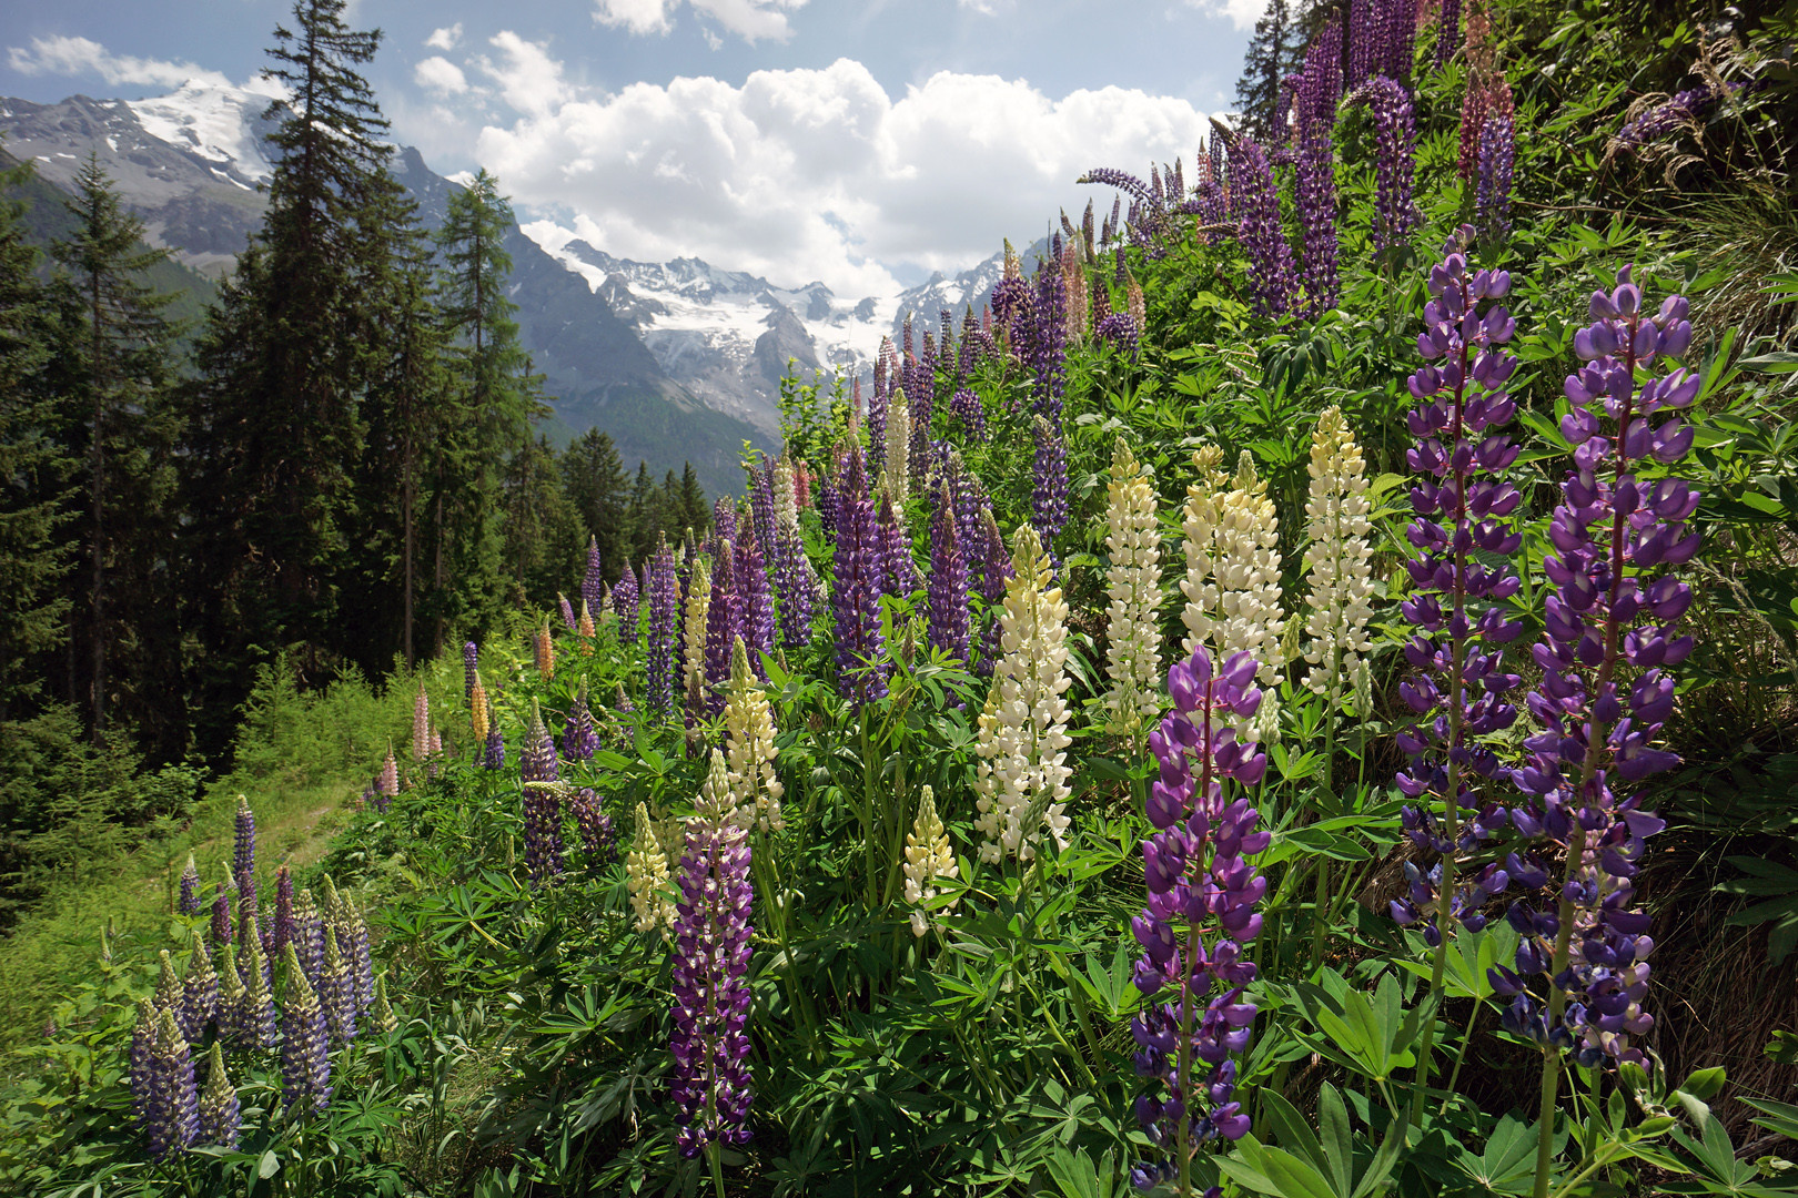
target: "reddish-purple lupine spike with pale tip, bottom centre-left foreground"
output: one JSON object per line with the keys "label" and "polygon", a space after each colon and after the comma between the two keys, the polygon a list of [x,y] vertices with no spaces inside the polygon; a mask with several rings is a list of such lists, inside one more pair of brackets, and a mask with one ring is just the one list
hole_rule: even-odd
{"label": "reddish-purple lupine spike with pale tip, bottom centre-left foreground", "polygon": [[750,846],[725,819],[687,830],[674,907],[676,1146],[698,1157],[707,1144],[746,1144],[750,1130]]}

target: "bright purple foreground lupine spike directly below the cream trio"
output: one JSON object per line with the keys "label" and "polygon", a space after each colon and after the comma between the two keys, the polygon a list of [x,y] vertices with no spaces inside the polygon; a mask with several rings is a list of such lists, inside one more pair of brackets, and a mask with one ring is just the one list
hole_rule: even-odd
{"label": "bright purple foreground lupine spike directly below the cream trio", "polygon": [[[1135,1171],[1144,1184],[1181,1176],[1201,1144],[1239,1141],[1250,1128],[1230,1058],[1248,1049],[1255,1020],[1242,995],[1255,965],[1242,947],[1260,934],[1255,903],[1268,891],[1248,859],[1271,835],[1255,832],[1250,797],[1232,797],[1224,783],[1248,788],[1268,771],[1268,754],[1233,729],[1260,708],[1255,670],[1250,654],[1214,670],[1205,648],[1194,650],[1169,668],[1174,709],[1149,733],[1162,776],[1147,801],[1156,832],[1142,842],[1149,903],[1131,920],[1144,950],[1133,981],[1147,1000],[1131,1035],[1136,1074],[1162,1083],[1162,1096],[1136,1099],[1136,1119],[1165,1157]],[[1206,932],[1215,936],[1208,947]],[[1172,1000],[1158,1002],[1163,993]]]}

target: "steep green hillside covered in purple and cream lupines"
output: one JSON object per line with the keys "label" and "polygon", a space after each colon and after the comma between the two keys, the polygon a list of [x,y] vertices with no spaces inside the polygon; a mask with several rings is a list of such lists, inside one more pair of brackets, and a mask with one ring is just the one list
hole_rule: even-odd
{"label": "steep green hillside covered in purple and cream lupines", "polygon": [[1277,7],[744,499],[507,507],[379,686],[277,524],[236,774],[0,943],[0,1187],[1798,1193],[1798,7]]}

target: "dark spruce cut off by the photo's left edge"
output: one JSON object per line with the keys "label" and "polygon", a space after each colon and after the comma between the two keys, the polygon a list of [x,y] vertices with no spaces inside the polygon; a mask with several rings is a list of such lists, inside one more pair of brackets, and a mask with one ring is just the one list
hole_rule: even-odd
{"label": "dark spruce cut off by the photo's left edge", "polygon": [[59,584],[70,569],[74,463],[45,435],[54,402],[43,383],[50,338],[38,251],[22,205],[5,196],[29,172],[23,163],[0,174],[0,742],[7,722],[43,690],[41,659],[68,630]]}

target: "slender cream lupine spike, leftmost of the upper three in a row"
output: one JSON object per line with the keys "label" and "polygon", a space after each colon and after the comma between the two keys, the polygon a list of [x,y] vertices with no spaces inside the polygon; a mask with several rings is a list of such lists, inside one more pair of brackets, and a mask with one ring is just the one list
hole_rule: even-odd
{"label": "slender cream lupine spike, leftmost of the upper three in a row", "polygon": [[1111,566],[1106,586],[1111,607],[1106,616],[1106,674],[1111,675],[1111,691],[1106,708],[1115,731],[1135,733],[1160,709],[1162,632],[1154,612],[1162,605],[1162,532],[1154,487],[1124,438],[1111,454],[1108,496],[1106,550]]}

